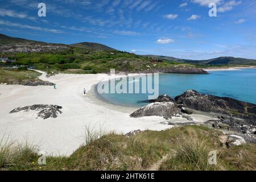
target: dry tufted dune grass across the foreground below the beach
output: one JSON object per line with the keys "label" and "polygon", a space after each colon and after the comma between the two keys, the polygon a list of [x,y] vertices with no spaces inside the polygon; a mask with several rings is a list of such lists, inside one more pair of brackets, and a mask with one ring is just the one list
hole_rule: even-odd
{"label": "dry tufted dune grass across the foreground below the beach", "polygon": [[[133,137],[98,133],[87,128],[85,146],[71,156],[48,156],[37,164],[36,147],[0,143],[2,170],[256,170],[256,145],[226,148],[219,131],[202,126],[145,131]],[[217,150],[217,166],[208,164]],[[18,154],[14,155],[13,154]]]}

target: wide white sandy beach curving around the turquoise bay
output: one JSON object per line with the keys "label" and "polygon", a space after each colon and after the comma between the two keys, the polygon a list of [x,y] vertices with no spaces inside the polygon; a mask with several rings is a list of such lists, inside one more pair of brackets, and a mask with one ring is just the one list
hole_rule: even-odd
{"label": "wide white sandy beach curving around the turquoise bay", "polygon": [[[84,143],[85,126],[90,125],[107,132],[128,133],[133,130],[164,130],[172,126],[163,125],[161,117],[130,118],[136,108],[124,108],[100,101],[90,91],[97,84],[99,75],[60,74],[41,80],[56,84],[52,86],[0,85],[0,138],[10,134],[11,138],[23,143],[25,139],[39,144],[40,150],[48,155],[70,155]],[[102,76],[102,75],[101,75]],[[108,75],[104,75],[108,77]],[[36,119],[35,113],[9,112],[16,107],[35,104],[62,106],[63,114],[57,118]],[[199,122],[210,119],[204,115],[193,115]],[[180,119],[178,119],[180,121]]]}

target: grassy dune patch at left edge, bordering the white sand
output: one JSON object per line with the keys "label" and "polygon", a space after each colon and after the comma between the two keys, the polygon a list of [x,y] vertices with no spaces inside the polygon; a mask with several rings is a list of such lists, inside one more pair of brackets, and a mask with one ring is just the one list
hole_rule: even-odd
{"label": "grassy dune patch at left edge, bordering the white sand", "polygon": [[0,68],[0,83],[13,84],[16,82],[20,84],[23,80],[38,80],[38,76],[40,75],[38,72],[27,70],[26,67],[10,70]]}

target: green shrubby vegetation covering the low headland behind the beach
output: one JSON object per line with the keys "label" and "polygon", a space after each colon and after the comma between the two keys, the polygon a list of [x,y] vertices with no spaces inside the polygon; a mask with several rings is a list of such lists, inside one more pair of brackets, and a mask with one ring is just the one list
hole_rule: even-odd
{"label": "green shrubby vegetation covering the low headland behind the beach", "polygon": [[[72,47],[67,51],[48,53],[16,53],[13,65],[34,65],[36,69],[46,72],[64,73],[108,73],[110,69],[121,72],[136,72],[154,68],[171,68],[173,63],[121,51],[88,51]],[[8,56],[8,55],[6,55]]]}

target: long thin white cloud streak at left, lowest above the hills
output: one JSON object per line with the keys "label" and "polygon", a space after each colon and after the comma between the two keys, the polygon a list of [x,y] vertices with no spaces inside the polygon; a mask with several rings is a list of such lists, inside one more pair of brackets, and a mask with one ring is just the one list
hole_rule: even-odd
{"label": "long thin white cloud streak at left, lowest above the hills", "polygon": [[64,31],[61,31],[61,30],[50,29],[50,28],[42,28],[42,27],[35,27],[35,26],[27,25],[27,24],[12,23],[12,22],[9,22],[9,21],[4,21],[4,20],[0,20],[0,24],[5,25],[5,26],[9,26],[9,27],[27,28],[27,29],[31,29],[31,30],[52,32],[54,34],[62,34],[62,33],[64,33]]}

